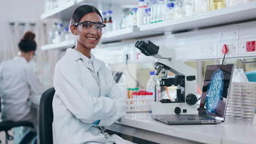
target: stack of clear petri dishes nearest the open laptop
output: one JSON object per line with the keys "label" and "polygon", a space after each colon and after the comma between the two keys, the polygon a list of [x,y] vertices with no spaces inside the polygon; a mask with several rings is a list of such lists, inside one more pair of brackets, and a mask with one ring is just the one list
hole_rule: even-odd
{"label": "stack of clear petri dishes nearest the open laptop", "polygon": [[241,85],[240,82],[232,82],[232,117],[242,118],[242,107],[240,103]]}

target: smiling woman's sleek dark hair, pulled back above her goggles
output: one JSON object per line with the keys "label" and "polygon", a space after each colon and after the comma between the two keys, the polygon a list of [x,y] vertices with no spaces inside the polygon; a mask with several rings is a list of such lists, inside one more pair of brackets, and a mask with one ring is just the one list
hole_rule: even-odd
{"label": "smiling woman's sleek dark hair, pulled back above her goggles", "polygon": [[[72,25],[74,25],[75,23],[78,23],[80,19],[88,13],[97,13],[98,15],[101,16],[100,11],[98,11],[98,9],[95,8],[94,6],[81,5],[80,7],[74,10],[74,13],[72,15]],[[103,22],[102,16],[101,16],[101,20]]]}

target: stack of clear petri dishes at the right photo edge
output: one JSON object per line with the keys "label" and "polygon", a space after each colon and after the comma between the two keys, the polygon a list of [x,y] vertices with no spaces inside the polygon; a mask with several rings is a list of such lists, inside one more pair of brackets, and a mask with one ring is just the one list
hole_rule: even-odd
{"label": "stack of clear petri dishes at the right photo edge", "polygon": [[242,108],[242,119],[253,120],[254,118],[254,83],[241,82],[240,102]]}

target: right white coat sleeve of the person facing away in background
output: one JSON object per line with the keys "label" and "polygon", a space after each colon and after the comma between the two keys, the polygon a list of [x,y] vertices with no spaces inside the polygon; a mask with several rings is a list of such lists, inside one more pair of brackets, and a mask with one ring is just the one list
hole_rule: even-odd
{"label": "right white coat sleeve of the person facing away in background", "polygon": [[40,89],[39,89],[39,81],[32,67],[28,67],[26,76],[27,76],[27,83],[30,86],[29,100],[34,105],[39,105],[40,97],[41,97]]}

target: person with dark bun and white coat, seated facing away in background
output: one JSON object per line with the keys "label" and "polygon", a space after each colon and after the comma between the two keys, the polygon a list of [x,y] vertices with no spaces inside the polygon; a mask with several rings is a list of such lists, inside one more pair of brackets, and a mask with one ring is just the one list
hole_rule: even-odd
{"label": "person with dark bun and white coat, seated facing away in background", "polygon": [[0,65],[2,121],[30,121],[37,127],[39,82],[28,62],[36,51],[35,34],[28,31],[19,42],[19,55]]}

